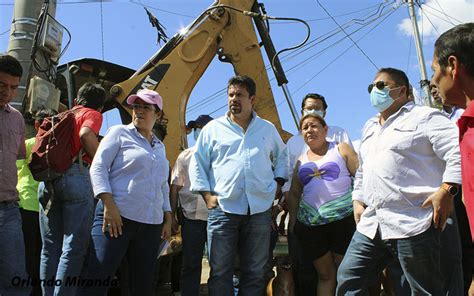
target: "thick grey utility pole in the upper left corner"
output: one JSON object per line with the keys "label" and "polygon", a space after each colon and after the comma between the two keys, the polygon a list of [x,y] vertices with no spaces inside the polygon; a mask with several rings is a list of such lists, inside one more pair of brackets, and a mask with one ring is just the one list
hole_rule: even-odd
{"label": "thick grey utility pole in the upper left corner", "polygon": [[[16,98],[10,103],[16,109],[22,110],[24,106],[26,87],[28,85],[28,78],[33,75],[44,78],[45,75],[39,73],[31,67],[31,50],[33,48],[33,41],[36,34],[38,17],[43,6],[43,3],[49,2],[48,13],[54,16],[56,13],[56,0],[16,0],[13,13],[12,25],[10,28],[10,39],[8,42],[7,53],[15,57],[23,68],[23,75],[20,80]],[[45,59],[40,54],[36,53],[36,60],[41,66],[44,66]],[[33,71],[33,73],[29,73]]]}

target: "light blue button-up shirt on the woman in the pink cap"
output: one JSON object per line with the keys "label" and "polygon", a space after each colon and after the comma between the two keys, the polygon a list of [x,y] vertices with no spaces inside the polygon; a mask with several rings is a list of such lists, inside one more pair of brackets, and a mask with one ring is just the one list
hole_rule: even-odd
{"label": "light blue button-up shirt on the woman in the pink cap", "polygon": [[150,145],[133,124],[107,132],[90,169],[96,197],[112,193],[122,217],[147,224],[162,223],[171,211],[168,174],[163,143],[153,136]]}

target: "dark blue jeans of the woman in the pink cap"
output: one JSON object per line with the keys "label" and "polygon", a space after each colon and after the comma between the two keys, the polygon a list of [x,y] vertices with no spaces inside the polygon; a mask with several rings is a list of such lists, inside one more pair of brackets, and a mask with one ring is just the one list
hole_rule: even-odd
{"label": "dark blue jeans of the woman in the pink cap", "polygon": [[130,295],[153,295],[153,273],[162,224],[145,224],[122,217],[122,235],[114,238],[108,232],[102,232],[103,223],[104,205],[99,201],[92,225],[90,253],[82,276],[93,284],[81,285],[77,295],[103,296],[109,286],[118,285],[113,276],[125,256],[129,266]]}

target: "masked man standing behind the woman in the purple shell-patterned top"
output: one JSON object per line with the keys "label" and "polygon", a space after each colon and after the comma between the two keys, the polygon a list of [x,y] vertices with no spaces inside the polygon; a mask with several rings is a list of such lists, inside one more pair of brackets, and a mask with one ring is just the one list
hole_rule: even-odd
{"label": "masked man standing behind the woman in the purple shell-patterned top", "polygon": [[[315,114],[324,118],[326,116],[326,110],[328,104],[326,99],[317,93],[309,93],[303,98],[301,103],[301,115]],[[347,132],[338,126],[328,126],[328,132],[326,139],[329,142],[336,143],[347,143],[352,147],[352,142]],[[288,196],[290,190],[291,177],[293,175],[293,168],[295,166],[298,157],[308,150],[308,145],[303,140],[301,132],[291,137],[287,142],[288,154],[290,158],[290,177],[285,185],[282,187],[285,199]],[[316,272],[311,262],[307,260],[300,260],[300,251],[298,240],[293,233],[288,235],[288,245],[290,248],[290,254],[292,258],[293,276],[296,279],[296,290],[298,295],[314,295],[316,292]]]}

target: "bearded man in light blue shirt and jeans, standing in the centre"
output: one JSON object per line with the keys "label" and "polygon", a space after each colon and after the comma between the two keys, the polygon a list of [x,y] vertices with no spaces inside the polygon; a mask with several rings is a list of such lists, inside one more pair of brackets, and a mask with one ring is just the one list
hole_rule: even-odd
{"label": "bearded man in light blue shirt and jeans, standing in the centre", "polygon": [[207,124],[196,142],[189,175],[209,209],[209,295],[233,295],[240,257],[242,295],[262,295],[271,205],[288,177],[288,152],[275,126],[253,111],[255,82],[235,76],[227,87],[229,111]]}

